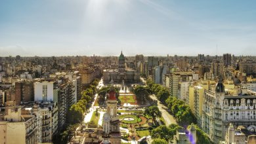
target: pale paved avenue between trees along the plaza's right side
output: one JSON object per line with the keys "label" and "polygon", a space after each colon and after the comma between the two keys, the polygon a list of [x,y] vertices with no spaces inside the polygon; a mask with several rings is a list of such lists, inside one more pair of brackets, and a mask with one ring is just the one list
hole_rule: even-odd
{"label": "pale paved avenue between trees along the plaza's right side", "polygon": [[167,109],[167,107],[161,104],[160,101],[156,98],[156,96],[150,95],[150,98],[158,101],[158,109],[161,111],[161,116],[163,117],[163,119],[165,119],[166,126],[169,126],[170,124],[177,124],[173,115],[171,115],[170,113],[168,113],[168,111],[165,110]]}

